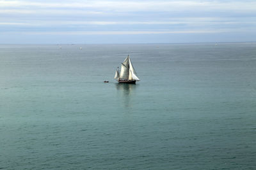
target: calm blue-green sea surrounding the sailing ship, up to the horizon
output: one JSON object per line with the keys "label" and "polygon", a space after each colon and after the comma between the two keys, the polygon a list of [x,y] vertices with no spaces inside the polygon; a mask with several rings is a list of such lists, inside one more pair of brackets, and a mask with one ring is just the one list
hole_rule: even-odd
{"label": "calm blue-green sea surrounding the sailing ship, up to the horizon", "polygon": [[[136,85],[113,79],[127,55]],[[256,43],[0,45],[0,169],[255,160]]]}

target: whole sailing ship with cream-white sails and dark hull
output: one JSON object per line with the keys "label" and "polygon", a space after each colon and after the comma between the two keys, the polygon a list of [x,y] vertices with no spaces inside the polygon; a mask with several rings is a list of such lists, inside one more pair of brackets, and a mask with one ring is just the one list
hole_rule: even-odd
{"label": "whole sailing ship with cream-white sails and dark hull", "polygon": [[115,77],[116,81],[118,83],[130,83],[135,84],[136,81],[140,81],[140,78],[138,78],[137,73],[132,66],[131,59],[128,55],[124,62],[121,63],[121,71],[119,72],[119,67],[116,69]]}

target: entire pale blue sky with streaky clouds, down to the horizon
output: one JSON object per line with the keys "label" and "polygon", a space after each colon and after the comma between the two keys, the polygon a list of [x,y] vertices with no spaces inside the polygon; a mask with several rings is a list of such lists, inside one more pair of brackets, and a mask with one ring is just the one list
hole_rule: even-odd
{"label": "entire pale blue sky with streaky clouds, down to the horizon", "polygon": [[0,43],[256,41],[256,1],[0,0]]}

